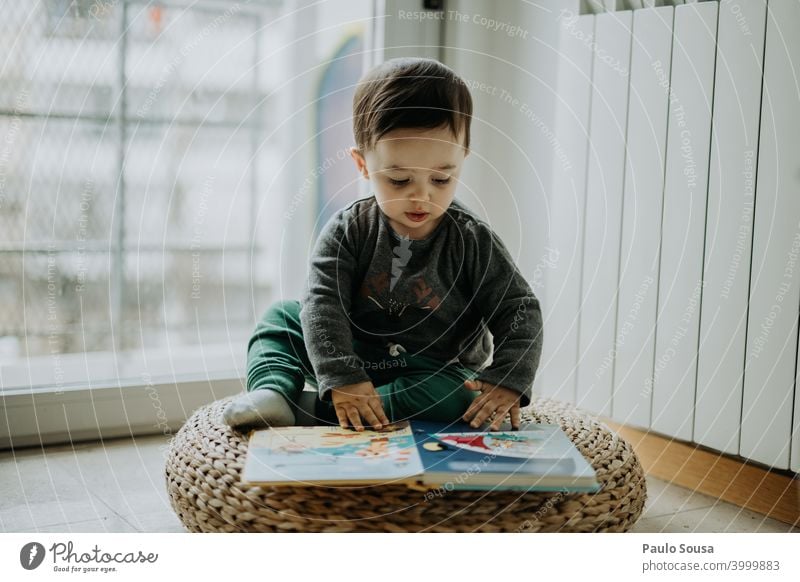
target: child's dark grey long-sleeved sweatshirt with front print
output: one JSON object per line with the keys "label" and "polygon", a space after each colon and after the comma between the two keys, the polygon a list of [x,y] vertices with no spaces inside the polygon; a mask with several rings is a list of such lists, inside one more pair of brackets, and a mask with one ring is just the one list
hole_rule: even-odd
{"label": "child's dark grey long-sleeved sweatshirt with front print", "polygon": [[460,362],[530,403],[542,351],[539,300],[497,234],[457,200],[422,240],[398,235],[374,196],[341,209],[317,239],[300,303],[323,400],[331,388],[370,381],[357,338],[387,356],[402,346]]}

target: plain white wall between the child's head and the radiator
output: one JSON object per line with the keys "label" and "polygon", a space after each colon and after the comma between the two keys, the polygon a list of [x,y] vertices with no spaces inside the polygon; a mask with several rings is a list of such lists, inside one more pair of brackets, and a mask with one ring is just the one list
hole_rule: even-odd
{"label": "plain white wall between the child's head and the radiator", "polygon": [[474,101],[460,196],[490,221],[537,295],[548,258],[556,18],[569,4],[577,9],[555,0],[451,0],[445,18],[442,58],[471,84]]}

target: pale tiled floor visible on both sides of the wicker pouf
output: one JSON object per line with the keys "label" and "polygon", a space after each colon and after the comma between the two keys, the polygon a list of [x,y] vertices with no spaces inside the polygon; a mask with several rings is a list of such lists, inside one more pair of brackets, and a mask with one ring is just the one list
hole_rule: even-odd
{"label": "pale tiled floor visible on both sides of the wicker pouf", "polygon": [[[2,532],[183,532],[164,484],[168,437],[0,453]],[[787,524],[648,478],[632,531],[798,532]]]}

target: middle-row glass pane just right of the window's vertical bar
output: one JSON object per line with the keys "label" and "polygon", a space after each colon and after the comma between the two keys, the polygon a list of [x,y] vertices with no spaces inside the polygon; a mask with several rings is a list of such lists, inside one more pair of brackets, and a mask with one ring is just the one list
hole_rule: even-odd
{"label": "middle-row glass pane just right of the window's vertical bar", "polygon": [[138,126],[125,164],[128,248],[248,244],[248,131]]}

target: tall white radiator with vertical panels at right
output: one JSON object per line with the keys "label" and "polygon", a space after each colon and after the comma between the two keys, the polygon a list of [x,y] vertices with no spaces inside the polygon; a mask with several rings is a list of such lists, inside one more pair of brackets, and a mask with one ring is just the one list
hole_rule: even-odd
{"label": "tall white radiator with vertical panels at right", "polygon": [[637,4],[559,17],[536,389],[798,472],[800,2]]}

